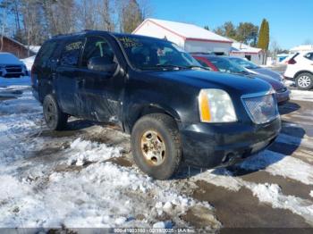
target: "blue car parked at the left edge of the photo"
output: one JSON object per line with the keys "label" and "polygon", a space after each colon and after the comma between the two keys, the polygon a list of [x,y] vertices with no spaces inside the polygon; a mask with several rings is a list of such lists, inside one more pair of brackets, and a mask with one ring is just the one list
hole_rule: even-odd
{"label": "blue car parked at the left edge of the photo", "polygon": [[10,53],[0,53],[0,77],[19,78],[27,75],[25,64],[17,57]]}

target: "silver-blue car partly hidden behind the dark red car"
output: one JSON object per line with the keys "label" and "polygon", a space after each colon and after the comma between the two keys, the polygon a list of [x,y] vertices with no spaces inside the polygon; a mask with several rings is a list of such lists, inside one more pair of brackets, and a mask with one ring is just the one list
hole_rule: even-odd
{"label": "silver-blue car partly hidden behind the dark red car", "polygon": [[232,60],[233,63],[236,63],[240,65],[241,67],[245,68],[250,73],[254,73],[258,75],[266,75],[266,76],[269,76],[270,78],[277,79],[278,81],[283,82],[283,75],[275,71],[262,68],[258,66],[257,64],[248,61],[247,59],[239,58],[239,57],[232,57],[232,56],[229,57],[229,59]]}

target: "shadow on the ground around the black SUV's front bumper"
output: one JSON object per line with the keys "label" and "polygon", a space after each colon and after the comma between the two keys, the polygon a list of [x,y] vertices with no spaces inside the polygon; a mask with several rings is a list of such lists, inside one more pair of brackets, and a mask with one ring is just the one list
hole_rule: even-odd
{"label": "shadow on the ground around the black SUV's front bumper", "polygon": [[[291,121],[283,121],[282,125],[281,133],[275,139],[275,142],[266,150],[257,155],[251,155],[240,163],[228,167],[218,167],[210,172],[215,175],[240,177],[264,170],[266,167],[283,160],[284,157],[292,155],[299,148],[306,132],[300,125]],[[191,178],[203,171],[207,171],[207,168],[183,165],[174,179]]]}

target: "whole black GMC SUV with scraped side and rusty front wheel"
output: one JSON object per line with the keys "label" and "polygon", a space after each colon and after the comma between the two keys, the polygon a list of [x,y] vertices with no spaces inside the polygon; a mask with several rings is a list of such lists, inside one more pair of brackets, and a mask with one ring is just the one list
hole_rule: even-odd
{"label": "whole black GMC SUV with scraped side and rusty front wheel", "polygon": [[131,134],[140,169],[160,180],[182,163],[234,163],[281,129],[270,85],[206,71],[162,39],[105,31],[57,36],[41,47],[31,76],[50,129],[63,130],[71,115],[113,122]]}

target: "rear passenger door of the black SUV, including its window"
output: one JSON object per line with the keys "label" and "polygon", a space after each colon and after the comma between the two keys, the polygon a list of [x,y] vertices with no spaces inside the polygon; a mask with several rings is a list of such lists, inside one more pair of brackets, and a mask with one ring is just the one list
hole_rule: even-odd
{"label": "rear passenger door of the black SUV, including its window", "polygon": [[53,74],[58,103],[64,113],[79,115],[79,63],[83,38],[71,38],[63,46],[58,67]]}

